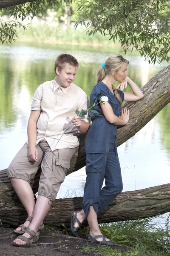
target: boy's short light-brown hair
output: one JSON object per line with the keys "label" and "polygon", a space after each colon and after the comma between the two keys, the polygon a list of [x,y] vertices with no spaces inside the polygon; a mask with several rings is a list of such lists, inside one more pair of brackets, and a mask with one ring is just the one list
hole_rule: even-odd
{"label": "boy's short light-brown hair", "polygon": [[66,64],[70,64],[73,67],[79,67],[79,63],[77,61],[76,58],[74,58],[74,56],[70,55],[70,54],[66,54],[66,53],[62,53],[60,55],[58,55],[56,61],[55,61],[55,65],[54,65],[54,72],[56,73],[56,67],[59,68],[59,70],[62,70],[63,67],[65,67]]}

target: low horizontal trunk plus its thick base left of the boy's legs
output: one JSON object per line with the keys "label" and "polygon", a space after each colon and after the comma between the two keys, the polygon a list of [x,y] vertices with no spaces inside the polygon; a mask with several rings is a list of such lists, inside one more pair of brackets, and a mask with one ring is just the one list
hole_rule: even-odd
{"label": "low horizontal trunk plus its thick base left of the boy's legs", "polygon": [[[4,227],[17,227],[28,217],[11,183],[6,179],[6,170],[0,171],[0,218]],[[69,226],[70,213],[82,209],[82,197],[58,199],[52,204],[44,223],[60,227]],[[170,183],[122,192],[104,212],[99,212],[99,223],[147,218],[170,212]],[[87,222],[84,223],[87,225]]]}

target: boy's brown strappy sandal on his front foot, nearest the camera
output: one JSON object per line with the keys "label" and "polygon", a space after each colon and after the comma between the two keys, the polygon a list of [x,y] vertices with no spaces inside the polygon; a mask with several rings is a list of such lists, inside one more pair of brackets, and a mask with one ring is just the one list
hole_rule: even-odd
{"label": "boy's brown strappy sandal on his front foot, nearest the camera", "polygon": [[35,233],[33,230],[31,230],[29,227],[27,228],[27,230],[25,231],[25,233],[27,233],[28,235],[30,235],[29,238],[27,238],[26,236],[18,236],[17,239],[20,239],[24,242],[26,242],[26,244],[24,245],[21,245],[21,244],[16,244],[14,242],[12,242],[12,244],[14,244],[15,246],[18,246],[18,247],[23,247],[23,246],[27,246],[29,244],[32,244],[36,241],[38,241],[39,239],[39,234],[40,232],[37,231],[37,233]]}

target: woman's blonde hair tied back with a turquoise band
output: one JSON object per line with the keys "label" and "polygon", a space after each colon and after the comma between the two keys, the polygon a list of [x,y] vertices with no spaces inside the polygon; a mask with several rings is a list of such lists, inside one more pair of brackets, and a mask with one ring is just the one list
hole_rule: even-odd
{"label": "woman's blonde hair tied back with a turquoise band", "polygon": [[[111,55],[105,62],[105,68],[104,67],[99,67],[97,70],[96,78],[97,78],[97,83],[99,81],[102,81],[107,75],[111,74],[111,72],[117,72],[119,68],[126,63],[127,65],[129,64],[129,61],[127,61],[125,58],[123,58],[122,55],[120,54],[113,54]],[[113,92],[115,93],[116,98],[120,102],[120,106],[122,105],[122,99],[117,92],[116,88],[113,86]]]}

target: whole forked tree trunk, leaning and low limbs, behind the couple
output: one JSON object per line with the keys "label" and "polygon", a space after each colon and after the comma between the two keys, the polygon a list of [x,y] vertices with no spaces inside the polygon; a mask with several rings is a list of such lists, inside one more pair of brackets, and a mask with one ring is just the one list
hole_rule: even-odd
{"label": "whole forked tree trunk, leaning and low limbs, behind the couple", "polygon": [[[161,70],[142,88],[144,98],[138,102],[127,103],[130,109],[130,120],[118,130],[118,145],[134,136],[165,105],[170,102],[170,66]],[[85,166],[85,135],[80,136],[80,145],[71,160],[67,175]],[[37,192],[40,171],[31,186]],[[52,205],[45,218],[45,223],[69,223],[71,210],[81,209],[82,198],[58,199]],[[144,218],[170,211],[170,184],[149,189],[124,192],[116,197],[104,213],[99,215],[99,222],[130,220]],[[6,170],[0,171],[0,219],[3,225],[17,226],[26,219],[26,212],[20,203]]]}

